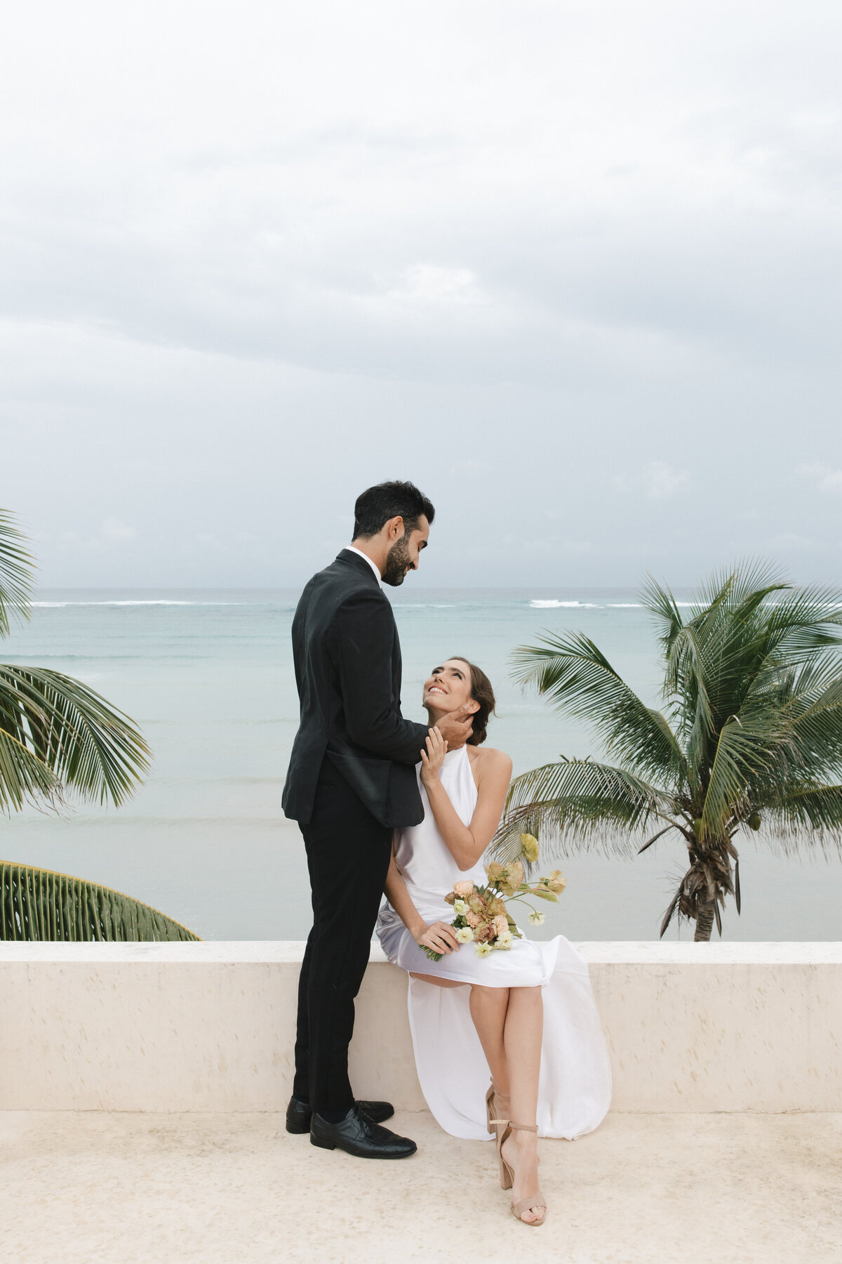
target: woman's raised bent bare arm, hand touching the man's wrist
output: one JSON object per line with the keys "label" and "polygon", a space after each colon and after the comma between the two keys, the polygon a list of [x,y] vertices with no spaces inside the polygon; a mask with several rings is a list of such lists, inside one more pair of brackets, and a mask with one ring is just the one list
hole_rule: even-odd
{"label": "woman's raised bent bare arm, hand touching the man's wrist", "polygon": [[430,729],[427,750],[422,751],[420,779],[451,856],[460,870],[473,868],[497,832],[506,791],[511,781],[511,760],[504,751],[483,751],[477,769],[477,805],[471,824],[463,824],[442,785],[438,772],[447,753],[447,742],[437,728]]}

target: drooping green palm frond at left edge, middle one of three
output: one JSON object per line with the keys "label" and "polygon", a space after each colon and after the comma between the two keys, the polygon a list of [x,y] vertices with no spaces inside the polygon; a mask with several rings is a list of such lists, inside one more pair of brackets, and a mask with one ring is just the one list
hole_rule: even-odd
{"label": "drooping green palm frond at left edge, middle one of three", "polygon": [[[0,664],[0,732],[34,756],[53,787],[100,803],[122,803],[149,769],[149,747],[127,715],[45,667]],[[0,803],[16,801],[18,780],[10,771],[6,781],[0,765]]]}

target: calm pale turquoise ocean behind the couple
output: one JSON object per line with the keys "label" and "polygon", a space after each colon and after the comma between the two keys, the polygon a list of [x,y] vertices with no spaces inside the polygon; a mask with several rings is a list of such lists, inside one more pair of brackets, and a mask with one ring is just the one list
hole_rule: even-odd
{"label": "calm pale turquoise ocean behind the couple", "polygon": [[[625,589],[422,589],[390,594],[404,657],[404,713],[424,719],[422,681],[462,655],[491,678],[489,743],[515,772],[598,755],[588,731],[510,679],[510,653],[543,631],[587,632],[658,705],[651,618]],[[77,676],[131,715],[154,751],[145,785],[119,810],[80,804],[0,823],[4,860],[57,868],[125,891],[206,939],[303,939],[311,925],[298,828],[280,798],[298,723],[290,623],[298,592],[50,590],[0,659]],[[726,939],[842,938],[842,862],[775,854],[738,838],[742,915],[726,908]],[[549,854],[548,854],[549,862]],[[641,856],[563,856],[567,891],[530,934],[655,939],[685,853],[663,839]],[[716,934],[716,932],[715,932]],[[692,938],[692,928],[669,938]]]}

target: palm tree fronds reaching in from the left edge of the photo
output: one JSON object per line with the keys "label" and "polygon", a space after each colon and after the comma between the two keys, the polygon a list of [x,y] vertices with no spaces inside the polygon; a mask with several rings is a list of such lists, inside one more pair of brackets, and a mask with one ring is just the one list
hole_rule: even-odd
{"label": "palm tree fronds reaching in from the left edge of the photo", "polygon": [[[29,618],[34,564],[0,511],[0,637]],[[0,664],[0,810],[58,809],[67,793],[119,806],[149,769],[143,734],[72,676]],[[0,939],[197,939],[157,909],[107,887],[0,862]]]}

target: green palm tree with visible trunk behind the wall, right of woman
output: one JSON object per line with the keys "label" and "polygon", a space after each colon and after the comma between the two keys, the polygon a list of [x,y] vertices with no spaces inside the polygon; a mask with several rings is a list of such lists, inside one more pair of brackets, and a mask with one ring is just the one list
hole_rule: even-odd
{"label": "green palm tree with visible trunk behind the wall, right of woman", "polygon": [[563,849],[626,853],[653,829],[640,852],[677,833],[689,867],[660,933],[688,918],[708,940],[726,896],[740,911],[741,829],[789,851],[842,842],[842,594],[744,564],[712,576],[687,618],[654,580],[643,604],[659,624],[663,710],[581,632],[515,651],[521,685],[590,722],[615,762],[562,758],[516,777],[497,849],[539,829]]}

